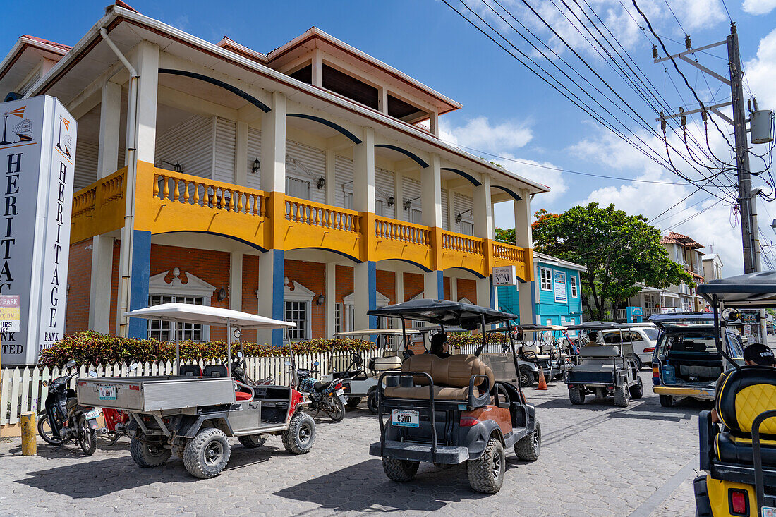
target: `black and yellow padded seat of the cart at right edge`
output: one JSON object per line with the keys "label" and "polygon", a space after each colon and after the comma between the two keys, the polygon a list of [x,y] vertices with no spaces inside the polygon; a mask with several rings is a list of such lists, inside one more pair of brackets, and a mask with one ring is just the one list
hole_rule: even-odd
{"label": "black and yellow padded seat of the cart at right edge", "polygon": [[[753,463],[752,422],[776,408],[776,368],[743,366],[730,371],[717,391],[714,407],[724,425],[716,435],[714,452],[721,461]],[[776,467],[776,418],[760,425],[763,464]]]}

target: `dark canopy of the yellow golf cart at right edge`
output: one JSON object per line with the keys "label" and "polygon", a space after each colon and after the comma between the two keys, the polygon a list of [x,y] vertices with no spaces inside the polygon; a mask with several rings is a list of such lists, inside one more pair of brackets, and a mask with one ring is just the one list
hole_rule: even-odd
{"label": "dark canopy of the yellow golf cart at right edge", "polygon": [[776,271],[712,280],[699,285],[698,294],[709,304],[714,305],[716,299],[726,308],[776,307]]}

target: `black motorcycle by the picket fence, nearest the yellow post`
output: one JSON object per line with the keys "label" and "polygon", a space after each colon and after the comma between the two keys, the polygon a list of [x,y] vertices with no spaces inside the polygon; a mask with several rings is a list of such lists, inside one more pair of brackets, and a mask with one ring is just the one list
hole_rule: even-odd
{"label": "black motorcycle by the picket fence, nearest the yellow post", "polygon": [[[68,361],[66,366],[73,368],[75,361]],[[92,456],[97,449],[97,418],[101,411],[78,405],[75,390],[68,387],[68,382],[77,375],[78,371],[75,371],[51,382],[43,381],[43,387],[48,388],[48,396],[45,409],[38,415],[38,434],[53,446],[63,446],[76,439],[81,450]]]}

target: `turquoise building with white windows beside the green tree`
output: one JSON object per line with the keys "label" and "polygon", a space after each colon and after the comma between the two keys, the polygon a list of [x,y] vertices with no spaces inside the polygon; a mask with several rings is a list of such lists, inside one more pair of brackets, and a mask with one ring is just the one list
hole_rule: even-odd
{"label": "turquoise building with white windows beside the green tree", "polygon": [[[534,252],[534,278],[531,282],[533,321],[521,323],[570,325],[582,322],[580,272],[584,265]],[[520,313],[517,286],[497,288],[497,307]]]}

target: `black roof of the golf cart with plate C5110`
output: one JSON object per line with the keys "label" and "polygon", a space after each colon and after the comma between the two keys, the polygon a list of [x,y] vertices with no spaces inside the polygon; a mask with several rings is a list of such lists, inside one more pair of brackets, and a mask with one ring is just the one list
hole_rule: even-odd
{"label": "black roof of the golf cart with plate C5110", "polygon": [[431,324],[476,328],[482,323],[494,324],[500,321],[514,320],[517,314],[496,311],[479,305],[462,304],[450,300],[410,300],[403,304],[389,305],[369,311],[372,316],[404,317],[416,321],[428,321]]}

